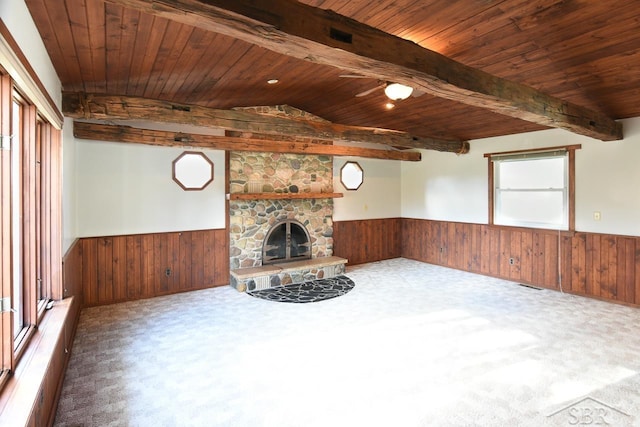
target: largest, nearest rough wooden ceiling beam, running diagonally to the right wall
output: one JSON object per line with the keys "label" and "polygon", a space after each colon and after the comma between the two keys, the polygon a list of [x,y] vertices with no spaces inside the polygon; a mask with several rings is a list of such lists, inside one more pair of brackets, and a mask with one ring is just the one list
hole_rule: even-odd
{"label": "largest, nearest rough wooden ceiling beam, running diagonally to the right wall", "polygon": [[295,0],[107,0],[284,55],[403,83],[434,96],[604,141],[610,117],[465,66],[418,44]]}

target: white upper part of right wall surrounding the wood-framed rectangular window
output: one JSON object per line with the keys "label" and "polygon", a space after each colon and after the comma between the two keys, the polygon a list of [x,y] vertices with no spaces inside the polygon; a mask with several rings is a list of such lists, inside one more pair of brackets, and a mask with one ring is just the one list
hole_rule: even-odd
{"label": "white upper part of right wall surrounding the wood-framed rectangular window", "polygon": [[[640,118],[621,122],[624,140],[616,142],[552,129],[471,141],[462,156],[423,151],[422,162],[402,163],[401,214],[486,224],[484,153],[582,144],[576,151],[576,230],[640,236]],[[602,213],[600,221],[594,211]]]}

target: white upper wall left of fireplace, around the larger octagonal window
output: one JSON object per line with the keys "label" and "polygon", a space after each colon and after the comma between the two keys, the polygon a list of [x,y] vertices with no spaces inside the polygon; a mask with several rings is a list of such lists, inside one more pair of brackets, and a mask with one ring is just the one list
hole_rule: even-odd
{"label": "white upper wall left of fireplace, around the larger octagonal window", "polygon": [[172,178],[182,148],[76,141],[80,237],[225,227],[224,151],[202,151],[214,163],[204,190],[185,191]]}

